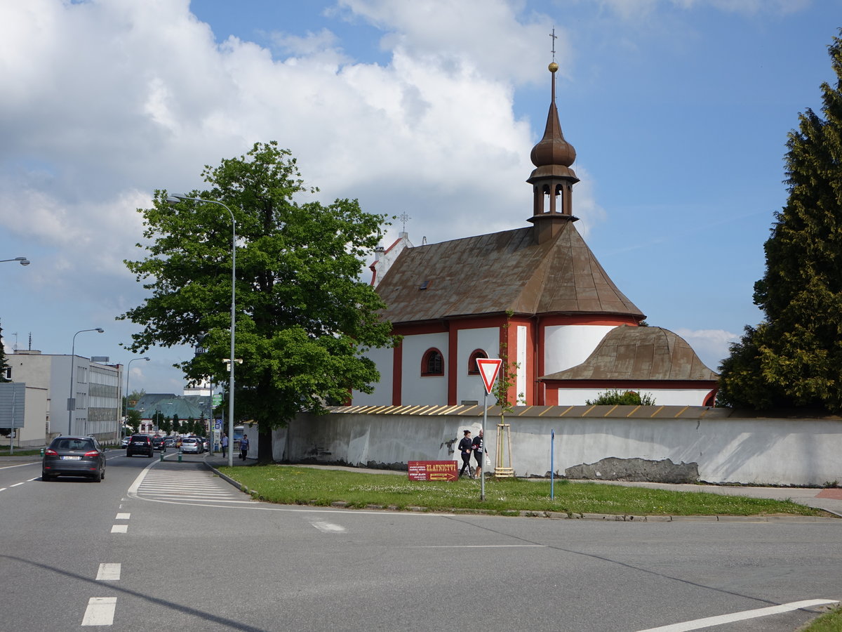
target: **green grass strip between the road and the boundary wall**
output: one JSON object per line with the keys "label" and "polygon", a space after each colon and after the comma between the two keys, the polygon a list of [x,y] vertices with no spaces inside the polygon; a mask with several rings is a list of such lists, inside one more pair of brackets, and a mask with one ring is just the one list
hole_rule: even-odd
{"label": "green grass strip between the road and the boundary wall", "polygon": [[549,480],[492,479],[480,481],[410,481],[403,476],[344,470],[302,468],[295,465],[255,465],[220,468],[250,490],[255,498],[284,505],[328,506],[344,502],[361,508],[420,507],[424,511],[490,511],[519,515],[520,511],[554,511],[568,515],[603,513],[626,516],[822,516],[823,511],[791,501],[770,501],[693,491],[651,490],[599,483]]}

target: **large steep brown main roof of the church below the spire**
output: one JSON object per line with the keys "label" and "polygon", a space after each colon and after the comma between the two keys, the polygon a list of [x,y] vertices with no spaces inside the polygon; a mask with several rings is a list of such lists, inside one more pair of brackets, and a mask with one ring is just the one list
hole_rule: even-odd
{"label": "large steep brown main roof of the church below the spire", "polygon": [[644,318],[573,222],[544,244],[535,243],[533,228],[517,228],[405,249],[377,292],[395,324],[507,310]]}

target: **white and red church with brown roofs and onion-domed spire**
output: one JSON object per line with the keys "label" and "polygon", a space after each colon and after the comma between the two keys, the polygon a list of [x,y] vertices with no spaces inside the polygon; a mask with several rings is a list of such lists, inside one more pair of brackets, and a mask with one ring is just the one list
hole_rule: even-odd
{"label": "white and red church with brown roofs and onion-domed spire", "polygon": [[585,404],[636,390],[655,404],[712,405],[717,374],[644,314],[596,260],[573,215],[576,151],[562,135],[555,62],[546,130],[532,149],[530,226],[413,246],[401,233],[371,265],[402,343],[368,356],[381,373],[354,405],[482,401],[477,357],[500,357],[509,401]]}

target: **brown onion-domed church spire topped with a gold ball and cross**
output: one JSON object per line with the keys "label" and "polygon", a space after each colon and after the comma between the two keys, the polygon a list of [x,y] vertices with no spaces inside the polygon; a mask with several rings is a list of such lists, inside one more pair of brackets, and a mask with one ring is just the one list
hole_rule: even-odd
{"label": "brown onion-domed church spire topped with a gold ball and cross", "polygon": [[553,62],[548,69],[552,75],[550,111],[546,115],[544,137],[532,147],[530,158],[536,169],[526,181],[532,185],[533,205],[530,222],[535,224],[536,242],[552,238],[573,217],[573,185],[579,180],[570,165],[576,160],[576,150],[564,139],[556,108],[555,62],[556,30],[552,29]]}

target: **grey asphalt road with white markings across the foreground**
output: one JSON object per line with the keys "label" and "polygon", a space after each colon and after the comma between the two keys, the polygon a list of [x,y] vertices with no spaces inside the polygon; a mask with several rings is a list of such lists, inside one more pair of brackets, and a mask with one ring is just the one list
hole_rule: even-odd
{"label": "grey asphalt road with white markings across the foreground", "polygon": [[842,598],[842,520],[270,506],[201,463],[124,454],[102,483],[0,464],[0,629],[791,632],[818,607],[675,624]]}

